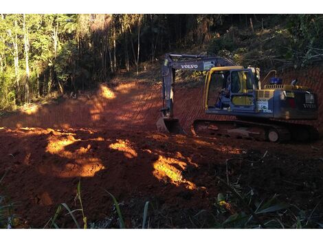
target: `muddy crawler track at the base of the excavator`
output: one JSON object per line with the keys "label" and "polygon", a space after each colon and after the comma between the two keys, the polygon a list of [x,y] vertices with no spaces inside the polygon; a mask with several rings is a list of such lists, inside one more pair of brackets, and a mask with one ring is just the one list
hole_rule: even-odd
{"label": "muddy crawler track at the base of the excavator", "polygon": [[197,136],[225,136],[270,142],[311,142],[317,140],[318,130],[307,124],[276,120],[252,122],[247,120],[194,120],[191,131]]}

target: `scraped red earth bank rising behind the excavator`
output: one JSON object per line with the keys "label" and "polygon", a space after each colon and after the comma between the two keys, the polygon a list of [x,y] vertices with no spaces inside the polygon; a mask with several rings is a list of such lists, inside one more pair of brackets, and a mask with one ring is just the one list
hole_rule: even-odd
{"label": "scraped red earth bank rising behind the excavator", "polygon": [[[149,70],[146,76],[156,76]],[[300,85],[311,87],[318,94],[319,120],[308,122],[322,129],[323,71],[320,66],[298,71],[283,72],[284,83],[298,78]],[[7,117],[0,118],[0,126],[43,127],[67,129],[69,127],[106,127],[124,130],[155,130],[162,106],[161,85],[149,85],[147,77],[115,78],[110,85],[102,84],[96,92],[81,94],[78,98],[61,97],[52,104],[32,106]],[[190,77],[186,77],[190,79]],[[193,120],[199,118],[223,120],[223,116],[205,115],[203,111],[203,80],[178,85],[175,92],[175,116],[189,131]]]}

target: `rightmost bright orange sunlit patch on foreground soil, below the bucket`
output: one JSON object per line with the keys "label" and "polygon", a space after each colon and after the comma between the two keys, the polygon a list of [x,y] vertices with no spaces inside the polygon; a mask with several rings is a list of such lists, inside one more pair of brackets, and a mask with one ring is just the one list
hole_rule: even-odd
{"label": "rightmost bright orange sunlit patch on foreground soil, below the bucket", "polygon": [[183,178],[182,171],[185,170],[186,166],[186,162],[181,162],[179,159],[159,155],[157,161],[153,164],[155,169],[153,175],[165,183],[170,182],[176,186],[184,185],[186,188],[194,190],[197,186]]}

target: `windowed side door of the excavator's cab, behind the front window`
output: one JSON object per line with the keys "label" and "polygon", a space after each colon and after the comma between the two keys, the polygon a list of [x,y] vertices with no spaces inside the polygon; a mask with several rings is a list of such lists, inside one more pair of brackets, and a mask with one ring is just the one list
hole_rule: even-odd
{"label": "windowed side door of the excavator's cab, behind the front window", "polygon": [[230,109],[251,111],[256,109],[255,80],[251,69],[234,69],[230,72]]}

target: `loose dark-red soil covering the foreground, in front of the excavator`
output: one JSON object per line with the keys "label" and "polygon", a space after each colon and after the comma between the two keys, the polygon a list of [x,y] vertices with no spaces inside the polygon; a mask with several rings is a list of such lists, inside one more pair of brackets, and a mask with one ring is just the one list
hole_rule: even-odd
{"label": "loose dark-red soil covering the foreground, in front of the excavator", "polygon": [[[43,228],[59,203],[80,208],[74,200],[79,180],[87,219],[107,221],[103,228],[118,228],[105,190],[121,203],[127,228],[140,228],[146,201],[150,228],[208,228],[210,214],[194,215],[212,212],[217,194],[226,192],[216,176],[225,179],[225,160],[232,158],[230,179],[239,177],[261,198],[278,193],[310,210],[323,194],[322,141],[281,145],[140,131],[1,129],[0,147],[3,192],[32,228]],[[75,227],[69,216],[58,221]]]}

